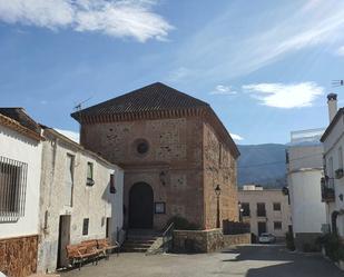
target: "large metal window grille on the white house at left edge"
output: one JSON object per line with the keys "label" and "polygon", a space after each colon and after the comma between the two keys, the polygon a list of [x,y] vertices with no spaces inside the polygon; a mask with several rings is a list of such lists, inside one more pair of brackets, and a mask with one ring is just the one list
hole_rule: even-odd
{"label": "large metal window grille on the white house at left edge", "polygon": [[28,164],[0,156],[0,221],[24,216]]}

